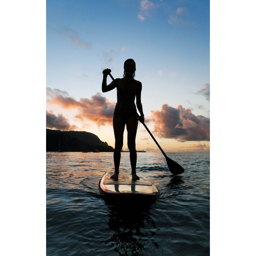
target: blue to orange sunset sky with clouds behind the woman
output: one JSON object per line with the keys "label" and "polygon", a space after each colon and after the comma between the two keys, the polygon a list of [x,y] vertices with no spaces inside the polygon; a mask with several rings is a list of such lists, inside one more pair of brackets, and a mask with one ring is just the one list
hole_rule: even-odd
{"label": "blue to orange sunset sky with clouds behind the woman", "polygon": [[[126,59],[142,82],[145,124],[166,152],[210,150],[210,2],[46,1],[46,128],[86,131],[114,147],[116,89]],[[108,77],[107,83],[111,82]],[[127,132],[123,150],[127,150]],[[136,149],[159,151],[139,123]]]}

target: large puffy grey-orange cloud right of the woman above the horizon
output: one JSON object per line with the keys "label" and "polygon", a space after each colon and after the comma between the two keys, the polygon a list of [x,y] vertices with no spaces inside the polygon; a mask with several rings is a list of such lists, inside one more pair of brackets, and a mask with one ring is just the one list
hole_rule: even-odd
{"label": "large puffy grey-orange cloud right of the woman above the horizon", "polygon": [[173,138],[179,142],[210,140],[210,119],[195,116],[182,105],[173,108],[164,104],[160,111],[151,110],[151,118],[154,132],[159,137]]}

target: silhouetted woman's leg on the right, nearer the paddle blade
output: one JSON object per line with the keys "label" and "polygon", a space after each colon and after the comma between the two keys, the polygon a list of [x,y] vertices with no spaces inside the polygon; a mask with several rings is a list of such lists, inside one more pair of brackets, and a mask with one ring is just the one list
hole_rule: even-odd
{"label": "silhouetted woman's leg on the right, nearer the paddle blade", "polygon": [[138,118],[136,115],[133,115],[128,119],[126,123],[127,144],[130,151],[130,161],[131,161],[133,179],[140,179],[136,175],[137,153],[136,153],[135,139],[136,139],[137,127],[138,127]]}

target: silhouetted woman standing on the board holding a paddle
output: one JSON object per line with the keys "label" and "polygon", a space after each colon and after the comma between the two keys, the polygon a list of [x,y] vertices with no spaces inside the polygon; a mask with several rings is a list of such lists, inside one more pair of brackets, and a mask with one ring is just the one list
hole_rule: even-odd
{"label": "silhouetted woman standing on the board holding a paddle", "polygon": [[[122,91],[125,93],[126,97],[132,103],[134,108],[140,112],[141,116],[139,118],[141,123],[144,123],[144,114],[141,104],[141,89],[142,84],[140,81],[134,79],[136,70],[136,64],[133,59],[128,59],[124,62],[124,75],[123,78],[115,79],[115,82],[119,85]],[[136,162],[137,153],[135,147],[135,138],[138,127],[138,117],[132,106],[129,104],[123,93],[116,87],[114,81],[107,85],[107,76],[111,72],[110,69],[104,69],[103,80],[102,80],[102,92],[108,92],[117,89],[117,103],[115,105],[114,116],[113,116],[113,128],[115,135],[115,150],[114,150],[114,165],[115,173],[110,178],[118,179],[119,175],[119,165],[121,159],[121,150],[123,148],[123,136],[124,128],[126,124],[127,129],[127,144],[130,151],[130,161],[132,167],[132,179],[140,179],[136,175]],[[136,97],[136,106],[135,106]]]}

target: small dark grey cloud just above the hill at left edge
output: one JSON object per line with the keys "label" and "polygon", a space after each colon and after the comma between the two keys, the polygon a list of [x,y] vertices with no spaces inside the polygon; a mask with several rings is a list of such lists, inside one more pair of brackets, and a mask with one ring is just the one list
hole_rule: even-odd
{"label": "small dark grey cloud just above the hill at left edge", "polygon": [[46,128],[61,131],[71,131],[77,129],[75,125],[70,125],[69,121],[62,115],[55,115],[52,111],[46,110]]}

